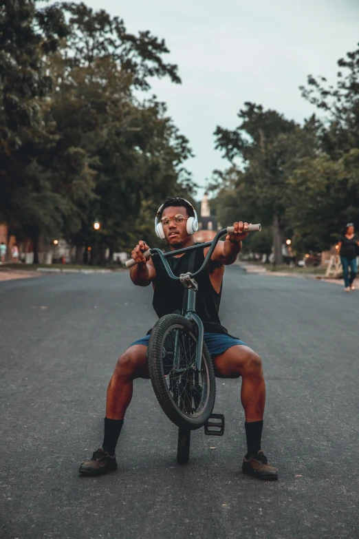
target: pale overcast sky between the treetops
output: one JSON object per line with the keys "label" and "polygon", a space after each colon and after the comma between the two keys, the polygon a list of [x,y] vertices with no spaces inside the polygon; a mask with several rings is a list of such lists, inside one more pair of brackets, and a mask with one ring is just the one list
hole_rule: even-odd
{"label": "pale overcast sky between the treetops", "polygon": [[[298,86],[307,74],[335,81],[336,61],[359,41],[359,0],[85,0],[124,19],[129,32],[166,41],[182,85],[153,80],[152,93],[191,142],[187,161],[202,186],[228,162],[217,125],[234,128],[245,101],[301,122],[314,112]],[[203,189],[198,192],[202,196]]]}

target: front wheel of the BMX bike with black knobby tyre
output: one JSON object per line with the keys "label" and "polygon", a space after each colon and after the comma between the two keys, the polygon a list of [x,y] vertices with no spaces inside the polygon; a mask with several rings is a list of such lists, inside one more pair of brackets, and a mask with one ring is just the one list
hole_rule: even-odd
{"label": "front wheel of the BMX bike with black knobby tyre", "polygon": [[177,427],[199,429],[215,405],[215,373],[206,344],[196,368],[195,325],[166,315],[153,328],[147,357],[153,390],[162,410]]}

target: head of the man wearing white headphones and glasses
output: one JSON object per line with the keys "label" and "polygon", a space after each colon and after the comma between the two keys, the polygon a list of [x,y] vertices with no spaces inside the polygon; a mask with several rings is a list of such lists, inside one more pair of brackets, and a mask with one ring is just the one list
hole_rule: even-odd
{"label": "head of the man wearing white headphones and glasses", "polygon": [[[196,217],[191,204],[183,198],[166,198],[157,213],[157,220],[162,224],[164,239],[172,246],[181,246],[188,242],[188,218]],[[190,222],[191,224],[191,222]],[[192,229],[192,226],[189,226]]]}

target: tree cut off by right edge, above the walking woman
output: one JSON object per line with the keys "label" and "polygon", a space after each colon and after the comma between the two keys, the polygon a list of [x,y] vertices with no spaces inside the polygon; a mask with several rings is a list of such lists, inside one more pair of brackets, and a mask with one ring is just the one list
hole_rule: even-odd
{"label": "tree cut off by right edge, above the walking woman", "polygon": [[290,178],[295,242],[328,249],[345,222],[359,223],[359,49],[338,60],[336,85],[308,76],[302,95],[326,113],[318,125],[318,153],[298,163]]}

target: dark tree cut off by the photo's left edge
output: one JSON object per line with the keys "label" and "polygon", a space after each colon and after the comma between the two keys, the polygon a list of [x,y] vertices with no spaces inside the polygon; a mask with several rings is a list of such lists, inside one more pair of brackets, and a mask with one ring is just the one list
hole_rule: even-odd
{"label": "dark tree cut off by the photo's left edge", "polygon": [[56,50],[67,26],[56,6],[36,10],[31,0],[3,1],[0,26],[0,219],[10,231],[56,228],[54,204],[62,201],[38,161],[49,142],[39,101],[52,90],[44,56]]}

